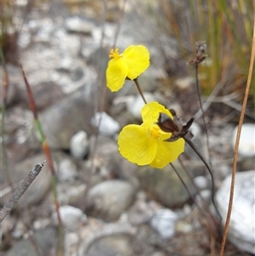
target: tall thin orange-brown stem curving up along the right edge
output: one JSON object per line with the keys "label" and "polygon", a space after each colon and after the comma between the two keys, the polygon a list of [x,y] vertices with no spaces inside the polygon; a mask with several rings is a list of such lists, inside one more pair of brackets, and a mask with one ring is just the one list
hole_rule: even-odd
{"label": "tall thin orange-brown stem curving up along the right edge", "polygon": [[[254,18],[255,18],[255,15],[254,15]],[[229,208],[228,208],[226,223],[225,223],[225,227],[224,227],[224,235],[223,235],[223,239],[221,242],[220,251],[219,251],[218,256],[223,256],[225,242],[226,242],[228,231],[229,231],[229,222],[230,222],[230,217],[231,217],[231,211],[232,211],[233,199],[234,199],[234,191],[235,191],[235,172],[236,172],[236,163],[237,163],[239,142],[240,142],[240,137],[241,137],[241,126],[242,126],[242,123],[244,120],[246,104],[247,104],[249,90],[250,90],[251,82],[252,82],[252,71],[253,71],[254,60],[255,60],[255,19],[254,19],[254,23],[253,23],[252,54],[251,54],[249,73],[248,73],[248,78],[247,78],[247,83],[246,83],[246,92],[245,92],[244,99],[243,99],[241,115],[240,115],[240,120],[239,120],[239,124],[238,124],[238,128],[237,128],[236,139],[235,139],[235,152],[234,152],[231,187],[230,187],[230,194],[229,194]]]}

